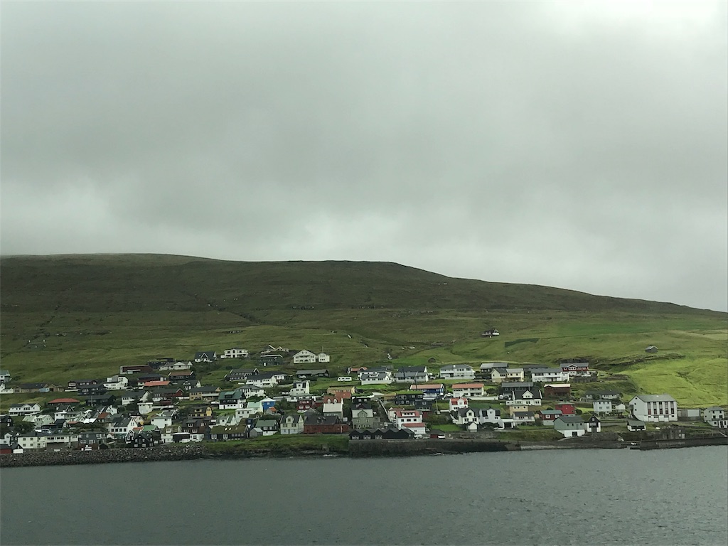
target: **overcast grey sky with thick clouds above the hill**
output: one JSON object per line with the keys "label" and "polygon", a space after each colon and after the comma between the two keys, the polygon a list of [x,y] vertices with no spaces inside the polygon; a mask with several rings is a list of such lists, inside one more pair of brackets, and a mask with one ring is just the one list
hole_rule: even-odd
{"label": "overcast grey sky with thick clouds above the hill", "polygon": [[727,6],[3,1],[0,252],[725,311]]}

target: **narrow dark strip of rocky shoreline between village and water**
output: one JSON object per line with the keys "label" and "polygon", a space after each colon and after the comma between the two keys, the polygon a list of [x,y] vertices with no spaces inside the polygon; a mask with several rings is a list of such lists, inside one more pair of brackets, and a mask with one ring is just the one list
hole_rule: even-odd
{"label": "narrow dark strip of rocky shoreline between village and water", "polygon": [[699,446],[728,446],[728,437],[687,438],[682,440],[642,440],[637,443],[579,438],[550,442],[516,442],[500,440],[356,440],[347,450],[320,448],[235,449],[213,451],[205,444],[156,446],[154,448],[112,448],[95,451],[39,451],[0,456],[0,468],[57,466],[68,464],[108,464],[119,462],[190,461],[198,459],[288,459],[291,457],[408,457],[423,455],[455,455],[495,451],[542,451],[554,449],[676,449]]}

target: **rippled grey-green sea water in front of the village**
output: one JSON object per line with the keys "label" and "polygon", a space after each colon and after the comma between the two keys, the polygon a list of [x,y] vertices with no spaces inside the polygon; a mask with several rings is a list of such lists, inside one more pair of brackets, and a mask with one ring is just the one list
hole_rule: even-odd
{"label": "rippled grey-green sea water in front of the village", "polygon": [[728,448],[4,468],[0,544],[725,546]]}

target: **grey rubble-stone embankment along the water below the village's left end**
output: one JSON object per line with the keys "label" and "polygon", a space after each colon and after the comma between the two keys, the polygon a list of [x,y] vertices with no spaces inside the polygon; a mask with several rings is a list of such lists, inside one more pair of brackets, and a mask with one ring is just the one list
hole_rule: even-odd
{"label": "grey rubble-stone embankment along the water below the village's left end", "polygon": [[154,448],[97,449],[95,451],[39,451],[0,456],[0,467],[39,467],[52,464],[101,464],[107,462],[152,462],[202,459],[203,446],[193,444]]}

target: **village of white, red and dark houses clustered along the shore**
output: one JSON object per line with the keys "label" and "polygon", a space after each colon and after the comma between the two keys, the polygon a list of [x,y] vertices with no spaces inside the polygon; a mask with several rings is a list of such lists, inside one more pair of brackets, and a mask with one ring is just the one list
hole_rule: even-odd
{"label": "village of white, red and dark houses clustered along the shore", "polygon": [[[659,430],[676,422],[723,435],[728,429],[719,406],[681,408],[667,393],[626,400],[587,361],[548,367],[433,360],[338,368],[339,375],[325,352],[269,345],[255,353],[234,347],[220,354],[199,351],[191,360],[122,365],[113,376],[65,385],[15,384],[10,371],[0,370],[0,394],[58,393],[43,403],[9,405],[0,416],[0,454],[274,435],[419,440],[551,430],[552,437],[566,439]],[[225,370],[223,381],[207,384],[210,370]]]}

